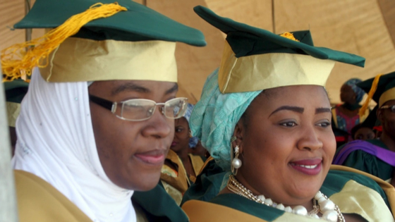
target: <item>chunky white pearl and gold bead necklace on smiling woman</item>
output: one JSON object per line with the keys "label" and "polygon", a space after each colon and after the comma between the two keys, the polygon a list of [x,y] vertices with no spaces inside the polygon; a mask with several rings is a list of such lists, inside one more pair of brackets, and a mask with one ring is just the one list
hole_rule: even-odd
{"label": "chunky white pearl and gold bead necklace on smiling woman", "polygon": [[229,176],[227,187],[231,192],[234,192],[236,195],[241,195],[247,199],[251,199],[257,203],[265,204],[267,206],[272,206],[274,208],[286,211],[288,213],[298,214],[302,216],[312,216],[314,218],[320,218],[317,213],[322,213],[322,220],[331,221],[331,222],[346,222],[343,214],[341,214],[339,210],[339,206],[336,206],[334,202],[328,199],[327,196],[323,195],[322,192],[318,191],[315,197],[312,199],[313,209],[308,212],[308,210],[301,205],[291,208],[291,206],[284,206],[283,204],[277,204],[272,201],[270,198],[265,198],[264,195],[254,195],[253,192],[245,188],[234,175]]}

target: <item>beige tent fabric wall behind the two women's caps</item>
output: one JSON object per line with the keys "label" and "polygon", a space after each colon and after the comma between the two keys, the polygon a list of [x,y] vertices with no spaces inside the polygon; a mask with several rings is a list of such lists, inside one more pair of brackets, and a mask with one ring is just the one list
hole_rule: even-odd
{"label": "beige tent fabric wall behind the two women's caps", "polygon": [[[0,49],[25,39],[23,30],[11,31],[25,13],[23,0],[0,1]],[[138,0],[142,4],[143,0]],[[315,45],[364,56],[365,68],[337,63],[327,82],[333,103],[339,102],[341,84],[395,70],[395,10],[384,0],[146,0],[147,6],[205,34],[207,47],[178,44],[179,96],[195,103],[209,73],[219,66],[224,35],[193,12],[193,6],[211,8],[232,18],[276,33],[310,30]],[[33,30],[33,36],[42,35]]]}

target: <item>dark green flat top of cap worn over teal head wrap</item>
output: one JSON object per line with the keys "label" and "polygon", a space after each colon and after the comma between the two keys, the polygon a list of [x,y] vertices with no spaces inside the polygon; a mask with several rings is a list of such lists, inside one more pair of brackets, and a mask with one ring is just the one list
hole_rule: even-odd
{"label": "dark green flat top of cap worn over teal head wrap", "polygon": [[[309,31],[292,32],[294,37],[300,41],[297,42],[275,35],[267,30],[238,23],[230,18],[217,16],[209,8],[203,6],[196,6],[193,9],[201,18],[228,35],[226,40],[233,51],[235,51],[236,57],[284,52],[307,54],[315,58],[330,59],[360,67],[365,66],[365,58],[363,57],[324,47],[314,47]],[[246,42],[248,44],[245,44]],[[241,43],[243,43],[243,47],[238,47]],[[245,47],[246,45],[247,47]]]}

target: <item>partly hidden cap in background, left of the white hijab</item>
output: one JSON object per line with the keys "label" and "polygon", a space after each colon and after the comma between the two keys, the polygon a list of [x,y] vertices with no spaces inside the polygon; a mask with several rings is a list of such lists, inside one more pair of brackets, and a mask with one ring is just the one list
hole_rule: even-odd
{"label": "partly hidden cap in background, left of the white hijab", "polygon": [[29,83],[19,79],[3,84],[6,92],[8,125],[15,127],[16,118],[18,118],[20,112],[20,102],[28,93]]}

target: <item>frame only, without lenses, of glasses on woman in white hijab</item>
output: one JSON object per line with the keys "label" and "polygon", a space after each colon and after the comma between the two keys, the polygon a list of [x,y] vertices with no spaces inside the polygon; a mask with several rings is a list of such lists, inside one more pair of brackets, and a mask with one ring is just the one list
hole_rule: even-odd
{"label": "frame only, without lenses, of glasses on woman in white hijab", "polygon": [[[186,98],[186,97],[177,97],[177,98],[174,98],[174,99],[183,99],[183,101],[186,101],[186,103],[188,103],[188,98]],[[133,122],[146,121],[146,120],[150,119],[152,116],[154,116],[155,110],[157,109],[158,105],[162,106],[162,107],[159,107],[159,111],[161,111],[163,116],[165,116],[166,118],[177,119],[177,118],[183,117],[184,113],[186,112],[186,109],[184,109],[183,114],[181,116],[177,117],[177,118],[171,118],[169,116],[166,116],[166,114],[164,113],[164,105],[166,103],[168,103],[169,101],[174,100],[174,99],[169,99],[168,101],[160,102],[160,103],[157,103],[156,101],[153,101],[151,99],[128,99],[128,100],[116,102],[116,101],[110,101],[110,100],[103,99],[103,98],[100,98],[100,97],[96,97],[95,95],[89,94],[89,101],[92,101],[94,104],[102,106],[104,109],[108,109],[109,111],[111,111],[111,113],[114,113],[114,115],[117,118],[120,118],[120,119],[122,119],[124,121],[133,121]],[[144,118],[144,119],[140,119],[140,120],[131,120],[131,119],[123,118],[122,116],[116,115],[116,113],[115,113],[116,112],[116,107],[119,104],[126,103],[127,101],[130,101],[130,100],[152,101],[155,104],[154,105],[154,111],[152,111],[151,116],[149,116],[148,118]]]}

